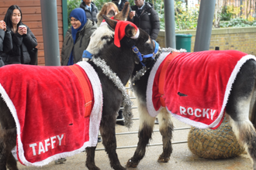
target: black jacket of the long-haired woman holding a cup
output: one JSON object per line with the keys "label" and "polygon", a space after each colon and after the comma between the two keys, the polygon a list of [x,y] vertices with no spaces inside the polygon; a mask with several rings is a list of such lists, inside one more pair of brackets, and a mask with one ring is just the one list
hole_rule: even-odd
{"label": "black jacket of the long-haired woman holding a cup", "polygon": [[2,59],[5,62],[5,64],[30,63],[29,50],[37,46],[37,40],[28,26],[26,26],[26,29],[26,35],[22,36],[18,32],[11,32],[12,50],[10,50],[8,53],[2,53]]}

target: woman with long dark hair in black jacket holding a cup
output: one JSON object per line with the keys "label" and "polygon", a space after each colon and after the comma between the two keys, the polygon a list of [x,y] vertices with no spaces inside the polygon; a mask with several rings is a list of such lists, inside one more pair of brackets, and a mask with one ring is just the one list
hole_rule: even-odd
{"label": "woman with long dark hair in black jacket holding a cup", "polygon": [[22,23],[22,12],[18,5],[8,8],[5,19],[7,29],[11,30],[12,50],[2,54],[5,64],[29,64],[29,50],[37,46],[36,37],[28,26]]}

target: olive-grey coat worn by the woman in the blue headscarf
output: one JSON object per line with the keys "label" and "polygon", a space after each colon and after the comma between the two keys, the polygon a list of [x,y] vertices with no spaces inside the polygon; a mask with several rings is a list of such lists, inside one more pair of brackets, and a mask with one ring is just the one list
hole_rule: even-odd
{"label": "olive-grey coat worn by the woman in the blue headscarf", "polygon": [[73,63],[78,63],[78,61],[81,61],[81,56],[90,42],[90,37],[97,28],[98,27],[96,26],[95,22],[87,19],[85,26],[77,33],[75,43],[73,42],[71,28],[67,30],[61,49],[61,66],[67,66],[68,59],[71,56],[71,51],[73,48]]}

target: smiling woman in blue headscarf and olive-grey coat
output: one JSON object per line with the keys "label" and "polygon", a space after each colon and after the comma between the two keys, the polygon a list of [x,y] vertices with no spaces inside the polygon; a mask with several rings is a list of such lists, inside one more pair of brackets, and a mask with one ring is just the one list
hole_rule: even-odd
{"label": "smiling woman in blue headscarf and olive-grey coat", "polygon": [[95,32],[95,22],[87,19],[82,8],[74,8],[70,14],[71,28],[67,30],[61,49],[61,66],[70,66],[81,61],[90,36]]}

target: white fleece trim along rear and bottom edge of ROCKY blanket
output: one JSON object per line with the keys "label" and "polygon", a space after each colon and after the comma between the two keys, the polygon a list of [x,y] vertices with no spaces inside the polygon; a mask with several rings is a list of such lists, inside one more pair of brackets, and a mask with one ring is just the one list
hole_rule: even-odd
{"label": "white fleece trim along rear and bottom edge of ROCKY blanket", "polygon": [[237,62],[237,65],[234,67],[234,70],[232,71],[232,73],[230,75],[230,78],[227,82],[227,87],[226,87],[226,90],[225,90],[224,100],[223,100],[223,104],[222,104],[222,107],[221,107],[221,110],[220,110],[220,114],[212,124],[208,125],[208,124],[203,124],[203,123],[200,123],[200,122],[192,121],[189,118],[182,117],[182,116],[179,116],[177,114],[173,114],[173,113],[171,113],[170,110],[168,110],[167,108],[166,109],[168,110],[168,112],[173,117],[177,118],[179,121],[182,121],[185,124],[192,125],[195,128],[215,128],[218,124],[220,124],[220,121],[222,120],[222,117],[223,117],[223,114],[224,114],[224,109],[227,106],[227,101],[228,101],[228,98],[230,97],[230,92],[231,92],[232,86],[234,84],[234,81],[236,80],[237,73],[240,71],[241,66],[243,66],[244,63],[247,62],[248,59],[254,59],[256,61],[255,56],[252,56],[252,55],[243,56]]}

